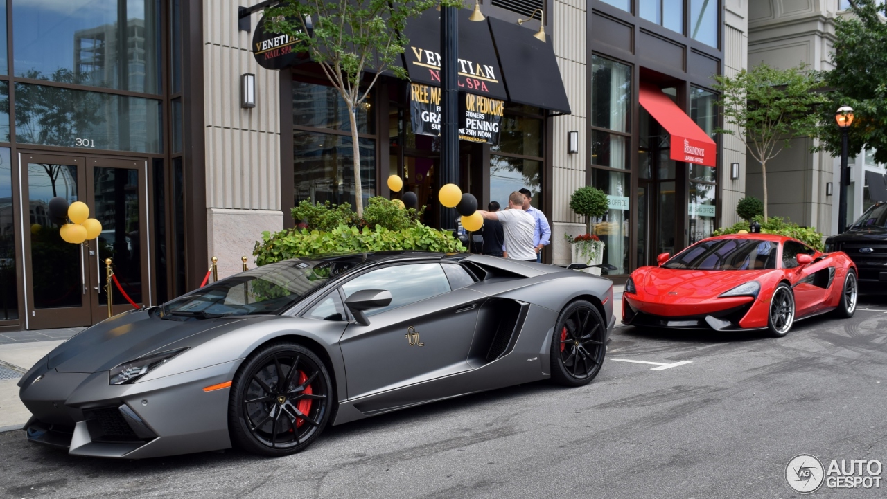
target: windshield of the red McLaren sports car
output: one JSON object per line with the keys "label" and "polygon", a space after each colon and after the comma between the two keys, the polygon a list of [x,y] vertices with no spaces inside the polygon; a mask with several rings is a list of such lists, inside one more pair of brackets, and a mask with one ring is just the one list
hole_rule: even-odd
{"label": "windshield of the red McLaren sports car", "polygon": [[776,268],[776,243],[755,239],[710,239],[676,254],[663,269],[757,270]]}

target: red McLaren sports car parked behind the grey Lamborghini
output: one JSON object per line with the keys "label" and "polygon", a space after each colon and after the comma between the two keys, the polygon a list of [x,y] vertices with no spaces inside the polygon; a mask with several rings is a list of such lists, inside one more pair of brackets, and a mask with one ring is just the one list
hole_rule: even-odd
{"label": "red McLaren sports car parked behind the grey Lamborghini", "polygon": [[632,272],[623,323],[714,331],[768,330],[785,336],[799,319],[856,311],[857,271],[842,253],[792,238],[734,234],[703,239],[659,267]]}

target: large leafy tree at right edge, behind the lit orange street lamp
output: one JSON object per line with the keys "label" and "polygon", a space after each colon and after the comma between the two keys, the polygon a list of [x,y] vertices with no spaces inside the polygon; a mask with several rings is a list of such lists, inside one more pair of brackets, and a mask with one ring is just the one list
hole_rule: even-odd
{"label": "large leafy tree at right edge, behind the lit orange street lamp", "polygon": [[[875,161],[887,163],[887,24],[879,14],[882,0],[851,0],[853,15],[835,18],[835,69],[822,74],[828,104],[820,109],[820,151],[841,154],[841,129],[835,112],[853,108],[848,130],[851,155],[874,149]],[[879,6],[880,5],[880,6]]]}

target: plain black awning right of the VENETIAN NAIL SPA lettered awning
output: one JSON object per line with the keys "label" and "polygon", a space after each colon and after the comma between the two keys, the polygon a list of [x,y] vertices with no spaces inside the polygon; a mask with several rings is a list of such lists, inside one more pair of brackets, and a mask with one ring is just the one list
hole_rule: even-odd
{"label": "plain black awning right of the VENETIAN NAIL SPA lettered awning", "polygon": [[[526,27],[502,19],[487,19],[510,100],[569,114],[569,100],[551,37],[546,36],[547,42],[543,43]],[[459,29],[461,27],[459,24]]]}

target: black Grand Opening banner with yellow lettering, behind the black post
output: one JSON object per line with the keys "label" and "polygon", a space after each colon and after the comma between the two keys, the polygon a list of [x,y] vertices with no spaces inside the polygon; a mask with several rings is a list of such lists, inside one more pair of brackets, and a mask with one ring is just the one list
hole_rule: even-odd
{"label": "black Grand Opening banner with yellow lettering, behind the black post", "polygon": [[[412,133],[441,135],[441,90],[419,83],[410,84]],[[505,101],[459,92],[459,140],[498,144]]]}

